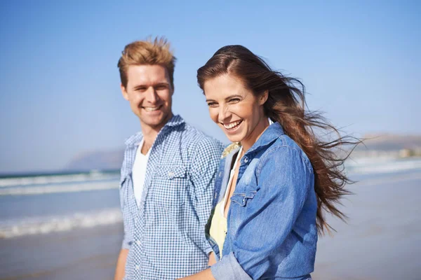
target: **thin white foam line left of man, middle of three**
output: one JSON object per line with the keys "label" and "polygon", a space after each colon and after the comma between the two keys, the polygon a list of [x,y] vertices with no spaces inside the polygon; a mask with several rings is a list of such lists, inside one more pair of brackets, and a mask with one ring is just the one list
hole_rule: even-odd
{"label": "thin white foam line left of man, middle of three", "polygon": [[119,188],[119,182],[110,181],[39,187],[0,188],[0,195],[44,195],[47,193],[76,193],[88,190],[109,190],[112,188]]}

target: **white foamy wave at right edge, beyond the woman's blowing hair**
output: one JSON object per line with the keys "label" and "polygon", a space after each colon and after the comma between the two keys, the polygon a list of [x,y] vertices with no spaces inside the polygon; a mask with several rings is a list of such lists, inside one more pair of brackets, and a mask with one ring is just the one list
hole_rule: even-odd
{"label": "white foamy wave at right edge, beyond the woman's blowing hair", "polygon": [[359,159],[345,165],[352,174],[385,174],[421,169],[421,160]]}

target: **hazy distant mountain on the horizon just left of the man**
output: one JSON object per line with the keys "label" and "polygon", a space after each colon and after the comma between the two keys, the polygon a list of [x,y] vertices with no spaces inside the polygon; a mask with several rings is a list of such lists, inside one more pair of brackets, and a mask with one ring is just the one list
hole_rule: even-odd
{"label": "hazy distant mountain on the horizon just left of the man", "polygon": [[112,151],[93,151],[76,155],[65,170],[89,171],[120,169],[123,162],[124,150],[115,149]]}

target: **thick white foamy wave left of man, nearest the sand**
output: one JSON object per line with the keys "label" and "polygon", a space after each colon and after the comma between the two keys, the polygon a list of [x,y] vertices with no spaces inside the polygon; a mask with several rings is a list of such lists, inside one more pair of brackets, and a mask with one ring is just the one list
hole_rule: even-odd
{"label": "thick white foamy wave left of man, nearest the sand", "polygon": [[77,228],[94,228],[99,225],[121,223],[119,208],[105,209],[92,213],[76,213],[72,216],[51,216],[30,218],[24,221],[0,224],[0,238],[22,235],[42,235],[50,232],[65,232]]}

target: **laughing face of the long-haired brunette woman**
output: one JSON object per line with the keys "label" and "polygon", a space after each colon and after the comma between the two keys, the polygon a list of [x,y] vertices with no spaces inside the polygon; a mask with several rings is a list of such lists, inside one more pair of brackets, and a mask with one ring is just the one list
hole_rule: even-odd
{"label": "laughing face of the long-haired brunette woman", "polygon": [[210,118],[229,141],[252,146],[268,125],[263,113],[267,92],[255,97],[239,78],[229,74],[206,80],[203,90]]}

